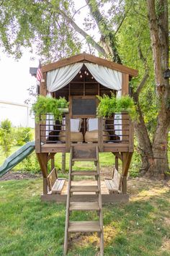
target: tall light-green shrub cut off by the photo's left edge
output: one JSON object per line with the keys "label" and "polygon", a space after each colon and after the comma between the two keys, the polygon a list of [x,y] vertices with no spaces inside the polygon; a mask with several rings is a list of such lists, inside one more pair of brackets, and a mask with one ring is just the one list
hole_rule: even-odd
{"label": "tall light-green shrub cut off by the photo's left edge", "polygon": [[6,157],[9,156],[9,153],[13,145],[13,136],[12,136],[12,123],[8,119],[1,121],[0,128],[0,144],[1,148],[4,151]]}

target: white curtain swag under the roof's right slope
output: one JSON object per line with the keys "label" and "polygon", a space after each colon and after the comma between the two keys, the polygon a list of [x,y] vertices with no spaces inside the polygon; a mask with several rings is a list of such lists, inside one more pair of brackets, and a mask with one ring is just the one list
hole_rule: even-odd
{"label": "white curtain swag under the roof's right slope", "polygon": [[122,89],[122,73],[108,67],[100,66],[98,64],[84,63],[92,76],[101,85],[106,86],[112,90]]}

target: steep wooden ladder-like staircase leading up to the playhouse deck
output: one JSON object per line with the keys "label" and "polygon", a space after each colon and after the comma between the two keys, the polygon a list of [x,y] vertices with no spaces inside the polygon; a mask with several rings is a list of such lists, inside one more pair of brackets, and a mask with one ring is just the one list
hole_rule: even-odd
{"label": "steep wooden ladder-like staircase leading up to the playhouse deck", "polygon": [[[97,171],[72,171],[75,161],[94,161]],[[94,176],[97,180],[96,186],[72,186],[71,181],[74,176]],[[93,192],[97,195],[94,202],[73,202],[71,197],[74,192],[84,192],[82,197],[86,197],[86,192]],[[99,221],[70,221],[69,217],[73,210],[94,210],[99,216]],[[97,232],[100,238],[100,255],[104,255],[103,218],[102,218],[102,195],[99,175],[99,151],[98,147],[77,148],[71,147],[70,166],[68,176],[68,195],[66,205],[66,227],[64,240],[64,255],[68,250],[68,234],[77,232]]]}

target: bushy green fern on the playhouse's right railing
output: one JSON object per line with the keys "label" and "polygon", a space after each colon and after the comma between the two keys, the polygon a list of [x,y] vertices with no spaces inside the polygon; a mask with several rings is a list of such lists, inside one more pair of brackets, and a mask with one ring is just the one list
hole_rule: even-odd
{"label": "bushy green fern on the playhouse's right railing", "polygon": [[112,93],[112,96],[103,95],[97,96],[99,99],[99,105],[97,107],[97,116],[112,116],[115,113],[128,112],[131,119],[137,119],[137,112],[135,111],[135,104],[130,96],[122,96],[120,98],[115,98],[115,95]]}

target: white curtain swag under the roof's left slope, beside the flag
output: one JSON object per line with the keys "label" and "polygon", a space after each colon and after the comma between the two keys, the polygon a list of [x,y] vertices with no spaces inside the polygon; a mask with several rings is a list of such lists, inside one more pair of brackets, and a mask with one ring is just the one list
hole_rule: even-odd
{"label": "white curtain swag under the roof's left slope, beside the flag", "polygon": [[67,85],[68,82],[71,82],[71,80],[76,77],[76,74],[80,71],[81,67],[83,67],[83,63],[78,62],[49,71],[47,74],[48,92],[53,93],[55,90],[60,90]]}

